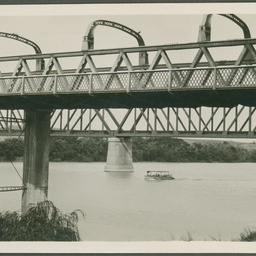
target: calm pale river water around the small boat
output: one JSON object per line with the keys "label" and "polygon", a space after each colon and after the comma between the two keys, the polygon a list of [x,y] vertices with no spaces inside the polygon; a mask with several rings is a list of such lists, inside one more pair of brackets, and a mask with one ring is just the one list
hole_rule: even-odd
{"label": "calm pale river water around the small boat", "polygon": [[[255,163],[134,163],[133,173],[106,173],[104,163],[50,163],[49,200],[86,213],[83,241],[230,241],[256,227]],[[22,163],[15,163],[22,173]],[[0,186],[20,185],[0,163]],[[147,170],[175,180],[147,181]],[[19,210],[21,191],[0,193],[1,210]]]}

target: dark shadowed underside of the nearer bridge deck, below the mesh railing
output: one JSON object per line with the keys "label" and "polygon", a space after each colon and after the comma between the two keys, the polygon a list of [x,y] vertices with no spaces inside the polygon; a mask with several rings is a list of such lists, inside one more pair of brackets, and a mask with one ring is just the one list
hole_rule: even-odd
{"label": "dark shadowed underside of the nearer bridge deck, below the mesh railing", "polygon": [[63,93],[58,95],[0,96],[1,109],[101,109],[101,108],[164,108],[256,106],[256,88],[240,90],[197,89],[149,91],[136,93]]}

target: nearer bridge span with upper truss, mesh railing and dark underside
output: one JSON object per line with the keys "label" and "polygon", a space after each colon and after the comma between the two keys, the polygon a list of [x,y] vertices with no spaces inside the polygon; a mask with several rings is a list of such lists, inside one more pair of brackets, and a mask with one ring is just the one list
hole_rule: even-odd
{"label": "nearer bridge span with upper truss, mesh railing and dark underside", "polygon": [[[256,106],[255,44],[242,39],[2,57],[0,64],[17,65],[0,77],[0,109]],[[240,54],[232,61],[214,60],[210,53],[237,47]],[[195,56],[190,63],[172,63],[172,51]],[[152,55],[150,65],[132,64],[129,55],[140,52]],[[102,63],[100,57],[113,65],[97,67],[93,58]],[[74,58],[75,70],[62,68],[61,61]],[[46,67],[32,71],[29,62],[38,59],[48,60]]]}

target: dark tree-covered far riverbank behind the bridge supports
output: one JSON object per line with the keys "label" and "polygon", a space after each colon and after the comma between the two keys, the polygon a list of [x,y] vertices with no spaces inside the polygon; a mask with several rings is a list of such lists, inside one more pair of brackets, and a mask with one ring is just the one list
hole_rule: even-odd
{"label": "dark tree-covered far riverbank behind the bridge supports", "polygon": [[[188,141],[188,140],[187,140]],[[256,144],[228,141],[190,141],[175,138],[134,138],[133,162],[256,162]],[[50,144],[52,162],[105,162],[106,138],[54,137]],[[0,142],[0,161],[21,160],[23,140]]]}

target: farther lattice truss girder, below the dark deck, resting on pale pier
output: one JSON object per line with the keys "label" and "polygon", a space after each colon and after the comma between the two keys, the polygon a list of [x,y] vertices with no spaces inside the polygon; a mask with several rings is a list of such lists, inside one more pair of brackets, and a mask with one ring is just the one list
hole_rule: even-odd
{"label": "farther lattice truss girder, below the dark deck, resting on pale pier", "polygon": [[[22,111],[0,112],[0,135],[24,129]],[[53,136],[256,137],[256,108],[132,108],[55,110]]]}

